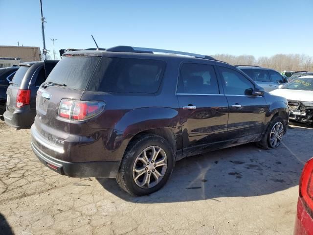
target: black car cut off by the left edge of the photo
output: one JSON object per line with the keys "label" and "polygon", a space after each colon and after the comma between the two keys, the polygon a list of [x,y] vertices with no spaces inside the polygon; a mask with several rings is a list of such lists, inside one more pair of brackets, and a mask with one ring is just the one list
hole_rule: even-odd
{"label": "black car cut off by the left edge of the photo", "polygon": [[0,69],[0,115],[3,115],[5,111],[6,89],[10,85],[10,82],[18,69],[18,66]]}

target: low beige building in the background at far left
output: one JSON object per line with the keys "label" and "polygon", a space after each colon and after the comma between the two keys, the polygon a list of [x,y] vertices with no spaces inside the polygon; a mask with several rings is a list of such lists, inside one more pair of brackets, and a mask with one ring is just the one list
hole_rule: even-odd
{"label": "low beige building in the background at far left", "polygon": [[21,62],[41,61],[39,47],[0,46],[0,57],[19,58]]}

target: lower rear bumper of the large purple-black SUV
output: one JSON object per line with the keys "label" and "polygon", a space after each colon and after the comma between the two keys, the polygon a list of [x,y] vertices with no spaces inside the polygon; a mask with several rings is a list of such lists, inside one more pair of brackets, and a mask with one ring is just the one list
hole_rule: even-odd
{"label": "lower rear bumper of the large purple-black SUV", "polygon": [[[99,177],[115,178],[119,169],[120,161],[92,161],[92,162],[66,162],[49,156],[42,151],[49,144],[40,139],[35,127],[31,128],[31,147],[37,158],[50,169],[61,175],[69,177]],[[61,153],[63,148],[50,143],[51,151]]]}

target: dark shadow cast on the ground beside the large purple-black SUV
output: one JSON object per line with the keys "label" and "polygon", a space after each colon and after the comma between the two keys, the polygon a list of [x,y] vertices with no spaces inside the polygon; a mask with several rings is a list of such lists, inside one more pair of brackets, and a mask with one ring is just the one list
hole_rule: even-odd
{"label": "dark shadow cast on the ground beside the large purple-black SUV", "polygon": [[262,150],[249,143],[182,159],[165,187],[148,196],[130,196],[115,179],[97,180],[109,192],[134,203],[270,194],[298,185],[303,164],[313,157],[312,136],[313,129],[292,126],[277,149]]}

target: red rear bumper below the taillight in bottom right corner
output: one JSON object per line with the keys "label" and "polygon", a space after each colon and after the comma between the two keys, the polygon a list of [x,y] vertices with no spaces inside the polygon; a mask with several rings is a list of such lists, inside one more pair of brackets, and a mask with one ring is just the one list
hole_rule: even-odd
{"label": "red rear bumper below the taillight in bottom right corner", "polygon": [[313,218],[310,216],[302,202],[298,199],[297,216],[294,225],[294,235],[313,235]]}

